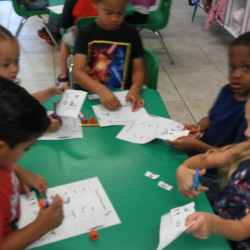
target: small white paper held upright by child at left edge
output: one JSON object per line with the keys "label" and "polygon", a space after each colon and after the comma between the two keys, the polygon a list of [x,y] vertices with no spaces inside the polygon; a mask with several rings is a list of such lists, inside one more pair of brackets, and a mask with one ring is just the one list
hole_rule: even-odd
{"label": "small white paper held upright by child at left edge", "polygon": [[81,90],[67,89],[64,91],[62,99],[57,105],[57,115],[77,117],[87,92]]}

